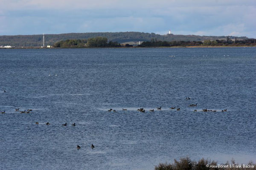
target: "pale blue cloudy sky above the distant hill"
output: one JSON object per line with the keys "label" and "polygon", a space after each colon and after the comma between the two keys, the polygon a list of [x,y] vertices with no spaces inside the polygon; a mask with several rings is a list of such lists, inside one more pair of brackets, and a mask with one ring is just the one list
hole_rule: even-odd
{"label": "pale blue cloudy sky above the distant hill", "polygon": [[0,0],[0,35],[169,30],[256,38],[256,0]]}

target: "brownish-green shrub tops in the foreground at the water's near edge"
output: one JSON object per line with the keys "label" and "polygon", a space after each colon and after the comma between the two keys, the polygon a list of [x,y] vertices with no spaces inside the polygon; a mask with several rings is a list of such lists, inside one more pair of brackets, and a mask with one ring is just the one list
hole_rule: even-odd
{"label": "brownish-green shrub tops in the foreground at the water's near edge", "polygon": [[192,161],[189,157],[174,159],[174,163],[160,163],[155,165],[154,170],[256,170],[256,164],[249,161],[247,164],[236,163],[234,159],[225,164],[218,164],[217,161],[209,159],[200,159]]}

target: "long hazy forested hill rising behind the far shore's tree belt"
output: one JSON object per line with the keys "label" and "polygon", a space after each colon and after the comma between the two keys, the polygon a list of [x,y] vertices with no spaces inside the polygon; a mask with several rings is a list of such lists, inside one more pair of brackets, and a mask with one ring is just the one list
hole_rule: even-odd
{"label": "long hazy forested hill rising behind the far shore's tree belt", "polygon": [[[87,40],[94,37],[106,37],[108,41],[113,42],[131,42],[131,41],[201,41],[201,40],[221,40],[226,39],[226,36],[198,36],[198,35],[160,35],[144,32],[95,32],[95,33],[68,33],[68,34],[45,34],[45,45],[54,45],[55,42],[68,39]],[[235,37],[229,36],[231,39]],[[246,40],[247,37],[237,37],[237,40]],[[11,45],[16,47],[42,46],[43,35],[13,35],[0,36],[0,45]]]}

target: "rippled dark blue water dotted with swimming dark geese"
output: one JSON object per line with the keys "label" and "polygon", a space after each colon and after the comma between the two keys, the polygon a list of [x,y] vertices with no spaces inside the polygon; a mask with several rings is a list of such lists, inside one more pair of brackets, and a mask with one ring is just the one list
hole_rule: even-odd
{"label": "rippled dark blue water dotted with swimming dark geese", "polygon": [[256,48],[0,49],[0,65],[1,170],[256,161]]}

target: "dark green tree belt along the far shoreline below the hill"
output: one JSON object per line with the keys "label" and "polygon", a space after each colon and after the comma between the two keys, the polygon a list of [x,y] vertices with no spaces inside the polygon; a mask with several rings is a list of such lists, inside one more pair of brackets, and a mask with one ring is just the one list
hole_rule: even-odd
{"label": "dark green tree belt along the far shoreline below the hill", "polygon": [[[221,48],[221,47],[255,47],[256,39],[247,40],[204,40],[204,41],[144,41],[139,45],[120,44],[108,41],[106,37],[95,37],[85,39],[61,40],[53,46],[47,47],[17,47],[17,48]],[[3,47],[2,47],[3,48]],[[13,47],[16,48],[16,47]]]}

